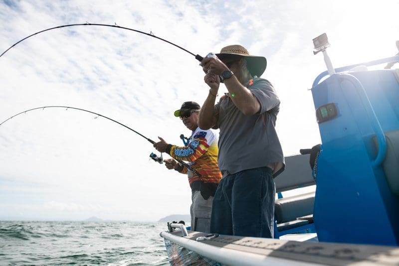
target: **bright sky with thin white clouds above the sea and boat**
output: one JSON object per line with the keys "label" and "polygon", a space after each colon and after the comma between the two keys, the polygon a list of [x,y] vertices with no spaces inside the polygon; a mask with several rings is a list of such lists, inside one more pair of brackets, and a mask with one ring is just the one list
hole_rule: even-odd
{"label": "bright sky with thin white clouds above the sea and boat", "polygon": [[[267,58],[262,76],[280,100],[285,155],[320,142],[309,89],[326,70],[312,39],[328,34],[334,67],[395,55],[399,2],[352,0],[0,2],[0,53],[37,31],[115,23],[174,42],[194,54],[241,44]],[[203,103],[208,88],[187,52],[133,31],[75,26],[37,34],[0,57],[0,123],[41,106],[102,114],[153,140],[189,135],[173,112]],[[226,89],[221,86],[219,95]],[[151,161],[143,137],[95,115],[28,112],[0,127],[0,220],[126,219],[188,214],[187,177]],[[165,158],[168,156],[165,155]]]}

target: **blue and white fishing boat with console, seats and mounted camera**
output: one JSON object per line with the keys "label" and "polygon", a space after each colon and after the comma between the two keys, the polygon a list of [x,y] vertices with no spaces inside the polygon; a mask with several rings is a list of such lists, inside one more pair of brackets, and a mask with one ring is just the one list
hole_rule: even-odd
{"label": "blue and white fishing boat with console, seats and mounted camera", "polygon": [[368,70],[399,56],[333,68],[327,35],[313,43],[327,66],[311,89],[322,143],[285,157],[274,239],[171,222],[171,265],[399,265],[399,69]]}

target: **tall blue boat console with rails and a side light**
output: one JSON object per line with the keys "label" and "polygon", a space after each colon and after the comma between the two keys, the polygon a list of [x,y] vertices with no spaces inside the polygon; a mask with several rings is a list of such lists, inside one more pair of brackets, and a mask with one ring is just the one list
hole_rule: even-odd
{"label": "tall blue boat console with rails and a side light", "polygon": [[[314,224],[320,242],[399,245],[399,70],[320,74],[312,88],[321,151]],[[320,82],[320,83],[319,83]]]}

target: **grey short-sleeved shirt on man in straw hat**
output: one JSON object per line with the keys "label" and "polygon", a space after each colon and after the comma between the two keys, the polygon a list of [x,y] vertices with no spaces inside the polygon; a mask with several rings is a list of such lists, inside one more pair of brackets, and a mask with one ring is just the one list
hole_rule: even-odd
{"label": "grey short-sleeved shirt on man in straw hat", "polygon": [[280,100],[271,83],[254,77],[244,84],[260,103],[260,112],[244,116],[228,96],[214,106],[219,113],[219,169],[225,177],[242,170],[268,166],[273,177],[284,170],[284,155],[275,125]]}

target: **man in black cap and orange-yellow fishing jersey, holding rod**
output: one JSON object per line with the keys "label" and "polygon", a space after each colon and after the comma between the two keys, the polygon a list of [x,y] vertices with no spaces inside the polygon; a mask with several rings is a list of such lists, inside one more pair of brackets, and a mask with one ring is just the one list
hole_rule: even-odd
{"label": "man in black cap and orange-yellow fishing jersey, holding rod", "polygon": [[199,112],[200,105],[196,102],[185,102],[175,112],[175,117],[180,117],[184,125],[192,131],[187,146],[168,144],[159,137],[161,141],[155,143],[154,147],[174,158],[164,160],[168,169],[188,174],[192,190],[191,228],[193,231],[208,233],[212,200],[221,173],[217,166],[217,136],[212,130],[201,130],[198,127]]}

